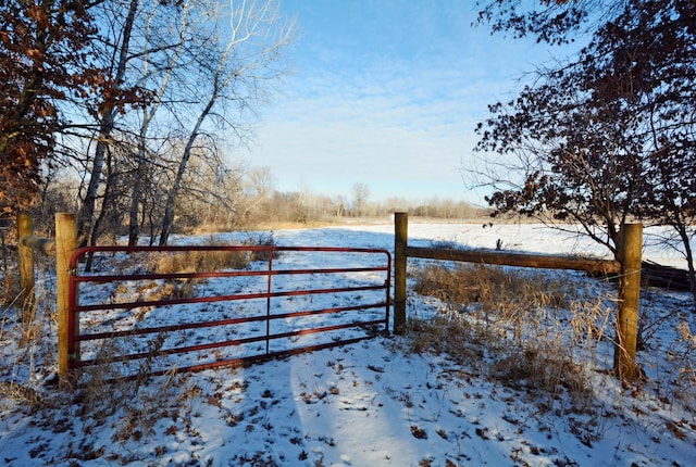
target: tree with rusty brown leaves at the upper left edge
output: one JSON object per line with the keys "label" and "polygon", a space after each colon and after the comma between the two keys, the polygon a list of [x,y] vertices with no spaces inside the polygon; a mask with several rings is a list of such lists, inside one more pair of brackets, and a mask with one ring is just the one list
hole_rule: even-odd
{"label": "tree with rusty brown leaves at the upper left edge", "polygon": [[91,17],[83,2],[0,1],[0,209],[32,203],[39,166],[66,122],[61,101],[104,84],[89,66]]}

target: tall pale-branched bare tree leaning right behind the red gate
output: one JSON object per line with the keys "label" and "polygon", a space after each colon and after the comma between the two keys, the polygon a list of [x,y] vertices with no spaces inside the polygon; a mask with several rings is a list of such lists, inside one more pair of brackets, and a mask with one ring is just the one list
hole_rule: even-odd
{"label": "tall pale-branched bare tree leaning right behind the red gate", "polygon": [[[226,20],[226,24],[223,24]],[[277,5],[271,0],[250,0],[239,4],[231,1],[227,11],[214,16],[211,37],[216,40],[207,53],[196,58],[197,74],[191,74],[191,87],[198,87],[197,115],[192,116],[186,144],[166,195],[160,244],[166,244],[174,224],[176,199],[197,139],[204,124],[212,121],[219,128],[232,129],[244,138],[245,123],[251,104],[264,97],[262,86],[277,78],[276,70],[283,50],[290,43],[291,26],[279,24]],[[232,109],[229,109],[232,106]],[[236,113],[236,118],[233,117]]]}

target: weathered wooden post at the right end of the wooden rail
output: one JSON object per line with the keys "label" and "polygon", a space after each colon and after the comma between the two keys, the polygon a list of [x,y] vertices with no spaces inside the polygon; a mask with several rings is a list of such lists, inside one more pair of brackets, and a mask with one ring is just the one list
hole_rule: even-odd
{"label": "weathered wooden post at the right end of the wooden rail", "polygon": [[638,376],[635,352],[638,341],[643,225],[624,224],[621,227],[620,249],[621,280],[613,362],[614,371],[621,379],[634,380]]}

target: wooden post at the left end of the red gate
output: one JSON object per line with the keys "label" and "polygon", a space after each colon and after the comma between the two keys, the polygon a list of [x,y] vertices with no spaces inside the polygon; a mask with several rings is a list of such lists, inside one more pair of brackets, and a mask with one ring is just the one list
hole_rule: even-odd
{"label": "wooden post at the left end of the red gate", "polygon": [[69,313],[70,258],[77,248],[77,224],[74,214],[55,214],[55,295],[58,306],[58,376],[65,380],[70,376],[70,359],[77,352],[71,345],[70,335],[77,323]]}

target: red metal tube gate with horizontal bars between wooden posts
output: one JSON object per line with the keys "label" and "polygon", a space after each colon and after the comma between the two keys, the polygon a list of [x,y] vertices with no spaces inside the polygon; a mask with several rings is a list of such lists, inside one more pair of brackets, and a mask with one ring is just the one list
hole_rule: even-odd
{"label": "red metal tube gate with horizontal bars between wooden posts", "polygon": [[[140,255],[177,252],[253,254],[263,261],[241,270],[77,273],[87,253],[137,265],[134,257]],[[302,267],[311,255],[324,255],[322,265],[328,266]],[[195,371],[358,342],[389,328],[386,250],[89,247],[75,252],[70,267],[71,369],[109,365],[116,377]],[[192,296],[177,294],[176,287],[164,298],[153,292],[163,283],[191,281],[199,282]]]}

